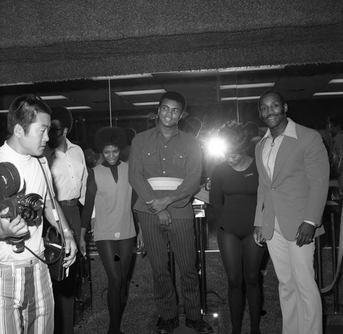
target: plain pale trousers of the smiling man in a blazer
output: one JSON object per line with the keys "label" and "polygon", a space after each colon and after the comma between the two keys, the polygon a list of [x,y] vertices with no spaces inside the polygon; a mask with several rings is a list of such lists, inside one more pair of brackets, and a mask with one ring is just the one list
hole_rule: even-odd
{"label": "plain pale trousers of the smiling man in a blazer", "polygon": [[276,276],[283,317],[283,334],[322,334],[322,301],[314,279],[314,242],[302,247],[283,237],[275,219],[267,241]]}

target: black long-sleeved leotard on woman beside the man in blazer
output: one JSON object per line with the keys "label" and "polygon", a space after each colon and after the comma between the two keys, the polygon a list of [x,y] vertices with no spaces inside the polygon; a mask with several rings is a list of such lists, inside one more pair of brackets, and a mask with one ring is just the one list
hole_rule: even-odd
{"label": "black long-sleeved leotard on woman beside the man in blazer", "polygon": [[255,159],[245,171],[235,171],[226,161],[215,167],[210,203],[215,209],[218,227],[239,237],[252,234],[258,185]]}

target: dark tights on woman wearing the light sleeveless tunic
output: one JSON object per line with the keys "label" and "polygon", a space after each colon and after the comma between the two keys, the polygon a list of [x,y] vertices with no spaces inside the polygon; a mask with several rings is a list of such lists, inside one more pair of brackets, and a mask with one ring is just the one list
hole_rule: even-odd
{"label": "dark tights on woman wearing the light sleeveless tunic", "polygon": [[101,240],[95,243],[108,279],[107,305],[110,313],[108,334],[119,334],[134,238],[117,241]]}

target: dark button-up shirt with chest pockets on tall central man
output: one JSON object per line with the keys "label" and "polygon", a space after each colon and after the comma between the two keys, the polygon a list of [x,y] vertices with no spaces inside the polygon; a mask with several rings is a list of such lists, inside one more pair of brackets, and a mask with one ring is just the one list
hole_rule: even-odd
{"label": "dark button-up shirt with chest pockets on tall central man", "polygon": [[[187,193],[187,198],[174,202],[167,210],[174,219],[193,219],[190,199],[199,190],[202,171],[201,150],[196,139],[178,128],[170,139],[165,139],[157,125],[134,136],[129,161],[129,181],[139,195],[135,210],[151,213],[146,202]],[[156,177],[182,178],[184,181],[174,191],[154,191],[147,179]]]}

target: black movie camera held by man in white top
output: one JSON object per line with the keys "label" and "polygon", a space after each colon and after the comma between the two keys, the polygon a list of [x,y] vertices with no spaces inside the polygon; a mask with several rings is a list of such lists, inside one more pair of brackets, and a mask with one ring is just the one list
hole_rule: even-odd
{"label": "black movie camera held by man in white top", "polygon": [[[21,177],[18,169],[12,163],[0,163],[0,211],[9,208],[8,213],[1,217],[9,218],[11,221],[17,215],[21,215],[27,224],[35,224],[43,199],[37,193],[25,194],[25,184],[21,191],[20,187]],[[5,241],[12,245],[14,252],[24,251],[23,237],[9,237]]]}

